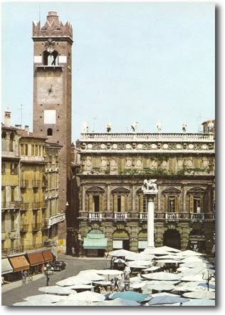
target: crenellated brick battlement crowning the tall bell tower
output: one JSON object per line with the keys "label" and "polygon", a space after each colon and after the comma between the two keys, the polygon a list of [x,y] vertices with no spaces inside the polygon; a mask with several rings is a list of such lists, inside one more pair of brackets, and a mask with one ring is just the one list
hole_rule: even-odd
{"label": "crenellated brick battlement crowning the tall bell tower", "polygon": [[41,27],[40,21],[33,21],[33,37],[58,37],[67,36],[73,38],[73,29],[71,24],[66,21],[65,24],[59,19],[57,12],[49,11],[46,23]]}

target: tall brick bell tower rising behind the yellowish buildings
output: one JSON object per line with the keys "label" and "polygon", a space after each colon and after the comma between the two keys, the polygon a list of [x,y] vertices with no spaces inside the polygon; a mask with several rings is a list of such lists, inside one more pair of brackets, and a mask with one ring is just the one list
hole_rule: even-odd
{"label": "tall brick bell tower rising behind the yellowish buildings", "polygon": [[[33,22],[33,132],[63,145],[59,155],[58,212],[66,213],[71,150],[72,26],[57,12],[48,12],[46,24]],[[66,220],[58,225],[61,249],[66,249]]]}

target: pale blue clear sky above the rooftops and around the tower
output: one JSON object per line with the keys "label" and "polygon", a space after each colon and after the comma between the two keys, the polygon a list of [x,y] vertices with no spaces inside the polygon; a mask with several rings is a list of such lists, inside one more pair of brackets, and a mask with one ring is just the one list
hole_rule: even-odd
{"label": "pale blue clear sky above the rooftops and around the tower", "polygon": [[57,11],[73,25],[72,140],[89,130],[196,133],[215,116],[214,4],[2,4],[1,91],[11,124],[33,125],[32,21]]}

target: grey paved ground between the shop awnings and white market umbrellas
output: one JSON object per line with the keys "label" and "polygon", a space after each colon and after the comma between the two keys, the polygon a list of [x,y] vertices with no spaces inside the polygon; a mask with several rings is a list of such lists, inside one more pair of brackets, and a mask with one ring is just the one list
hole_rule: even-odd
{"label": "grey paved ground between the shop awnings and white market umbrellas", "polygon": [[[58,260],[63,260],[67,263],[66,269],[61,272],[54,272],[50,278],[49,286],[53,286],[56,282],[75,276],[81,270],[87,269],[107,269],[110,268],[110,260],[103,258],[77,258],[68,255],[58,255]],[[9,286],[7,288],[7,286]],[[12,306],[16,302],[23,301],[27,296],[43,294],[38,291],[41,286],[46,286],[46,277],[37,275],[33,282],[22,284],[22,281],[11,284],[4,284],[1,293],[1,305]]]}

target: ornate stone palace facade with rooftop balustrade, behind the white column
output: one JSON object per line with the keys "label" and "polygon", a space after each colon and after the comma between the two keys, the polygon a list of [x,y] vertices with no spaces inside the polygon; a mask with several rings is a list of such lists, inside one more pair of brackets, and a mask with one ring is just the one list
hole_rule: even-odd
{"label": "ornate stone palace facade with rooftop balustrade, behind the white column", "polygon": [[[199,249],[214,243],[213,133],[83,133],[74,167],[81,255],[147,246],[143,180],[157,179],[155,246]],[[77,165],[77,164],[76,164]],[[74,191],[75,191],[74,190]]]}

